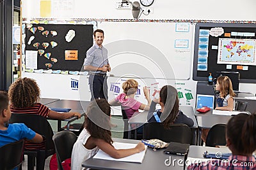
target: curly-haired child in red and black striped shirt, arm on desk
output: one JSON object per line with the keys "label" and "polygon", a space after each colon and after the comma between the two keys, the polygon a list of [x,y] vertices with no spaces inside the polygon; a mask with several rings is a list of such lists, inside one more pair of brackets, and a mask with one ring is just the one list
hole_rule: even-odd
{"label": "curly-haired child in red and black striped shirt, arm on desk", "polygon": [[31,78],[18,78],[9,87],[9,96],[12,113],[29,113],[56,120],[64,120],[70,117],[81,117],[80,113],[58,113],[49,110],[44,104],[38,103],[40,89],[35,80]]}

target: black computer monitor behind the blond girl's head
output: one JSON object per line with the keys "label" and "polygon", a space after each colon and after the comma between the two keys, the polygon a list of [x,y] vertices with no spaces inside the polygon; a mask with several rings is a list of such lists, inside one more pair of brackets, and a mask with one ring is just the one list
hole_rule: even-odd
{"label": "black computer monitor behind the blond girl's head", "polygon": [[228,76],[232,81],[233,90],[235,91],[239,90],[239,79],[240,79],[239,72],[216,71],[216,75],[214,77],[218,78],[219,76]]}

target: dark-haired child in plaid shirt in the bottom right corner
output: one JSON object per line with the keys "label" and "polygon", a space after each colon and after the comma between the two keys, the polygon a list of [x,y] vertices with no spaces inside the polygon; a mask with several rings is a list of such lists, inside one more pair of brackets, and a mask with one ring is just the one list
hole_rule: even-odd
{"label": "dark-haired child in plaid shirt in the bottom right corner", "polygon": [[188,169],[256,169],[255,158],[252,155],[256,150],[255,134],[255,114],[240,113],[230,118],[226,127],[226,142],[232,155],[228,157],[228,162],[221,164],[220,160],[211,160],[207,164],[191,164]]}

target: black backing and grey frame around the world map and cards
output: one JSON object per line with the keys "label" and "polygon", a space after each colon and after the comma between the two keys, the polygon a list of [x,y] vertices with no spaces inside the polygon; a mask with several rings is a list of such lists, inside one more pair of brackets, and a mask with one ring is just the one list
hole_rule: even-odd
{"label": "black backing and grey frame around the world map and cards", "polygon": [[[236,65],[232,65],[232,69],[227,69],[227,64],[217,64],[218,50],[213,50],[212,45],[218,46],[219,38],[224,37],[225,34],[221,36],[214,37],[209,36],[209,46],[208,46],[208,60],[207,60],[207,71],[198,71],[198,42],[199,42],[199,31],[200,29],[211,29],[213,27],[222,27],[224,32],[254,32],[256,35],[256,25],[255,24],[228,24],[228,23],[199,23],[196,24],[195,30],[195,48],[194,48],[194,62],[193,62],[193,80],[207,81],[209,73],[214,73],[216,71],[238,71],[240,73],[240,82],[243,83],[256,83],[256,66],[248,66],[248,70],[244,71],[237,69]],[[231,36],[230,38],[235,38]],[[236,39],[256,39],[256,36],[244,37],[236,36]]]}

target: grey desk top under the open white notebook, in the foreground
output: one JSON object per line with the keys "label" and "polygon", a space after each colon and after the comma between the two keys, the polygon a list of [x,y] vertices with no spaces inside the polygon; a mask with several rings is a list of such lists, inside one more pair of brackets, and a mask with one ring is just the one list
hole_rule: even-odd
{"label": "grey desk top under the open white notebook, in the foreground", "polygon": [[[138,143],[138,140],[113,138],[113,141],[122,143]],[[163,153],[164,149],[152,150],[147,148],[142,163],[119,162],[115,160],[102,160],[90,158],[83,162],[82,166],[92,169],[184,169],[184,155],[168,155]],[[169,165],[170,164],[170,165]]]}

